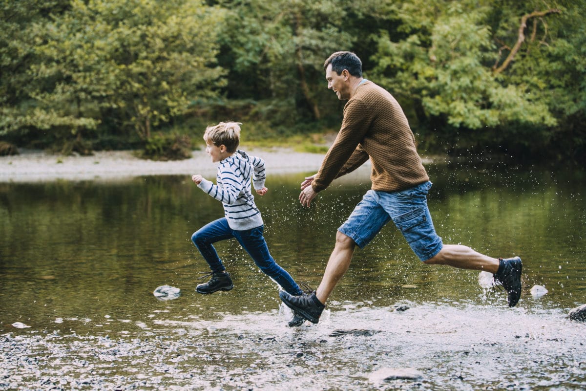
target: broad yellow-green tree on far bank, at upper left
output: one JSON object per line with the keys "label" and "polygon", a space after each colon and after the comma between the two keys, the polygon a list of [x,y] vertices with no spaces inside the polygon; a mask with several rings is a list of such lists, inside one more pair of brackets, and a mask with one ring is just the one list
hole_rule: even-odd
{"label": "broad yellow-green tree on far bank, at upper left", "polygon": [[116,131],[152,130],[217,94],[217,27],[224,12],[198,1],[71,0],[33,25],[29,67],[35,89],[27,115],[39,129],[74,135],[115,118]]}

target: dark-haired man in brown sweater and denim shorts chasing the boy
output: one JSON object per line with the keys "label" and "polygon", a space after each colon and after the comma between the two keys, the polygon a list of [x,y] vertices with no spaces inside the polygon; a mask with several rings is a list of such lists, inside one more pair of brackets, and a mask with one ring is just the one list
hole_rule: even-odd
{"label": "dark-haired man in brown sweater and denim shorts chasing the boy", "polygon": [[317,323],[326,300],[350,265],[355,246],[362,249],[392,220],[421,261],[493,273],[495,282],[507,291],[509,307],[515,307],[521,296],[519,257],[488,257],[466,246],[443,244],[435,233],[427,207],[431,182],[417,154],[407,118],[394,97],[363,79],[362,62],[354,53],[333,53],[323,67],[328,89],[338,99],[348,101],[338,137],[319,172],[301,183],[299,201],[309,206],[333,179],[348,174],[368,159],[372,164],[372,189],[339,227],[318,289],[299,296],[281,291],[281,300],[305,319]]}

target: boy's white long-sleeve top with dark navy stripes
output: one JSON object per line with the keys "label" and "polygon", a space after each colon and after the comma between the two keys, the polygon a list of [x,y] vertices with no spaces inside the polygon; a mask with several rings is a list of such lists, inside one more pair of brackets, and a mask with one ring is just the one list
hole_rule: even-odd
{"label": "boy's white long-sleeve top with dark navy stripes", "polygon": [[197,187],[222,202],[231,229],[243,231],[263,225],[250,183],[252,180],[255,189],[262,189],[265,178],[264,160],[238,150],[219,162],[217,185],[203,179]]}

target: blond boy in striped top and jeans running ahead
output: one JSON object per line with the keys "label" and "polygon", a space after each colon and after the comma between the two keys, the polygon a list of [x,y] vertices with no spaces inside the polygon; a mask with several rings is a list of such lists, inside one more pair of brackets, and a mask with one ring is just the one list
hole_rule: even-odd
{"label": "blond boy in striped top and jeans running ahead", "polygon": [[[252,176],[257,194],[263,196],[267,193],[268,189],[264,187],[264,160],[249,157],[246,152],[237,150],[240,144],[240,125],[241,123],[236,122],[221,122],[207,127],[203,135],[206,152],[212,157],[212,162],[219,163],[217,185],[201,175],[192,176],[192,181],[197,187],[222,202],[225,216],[203,226],[191,237],[193,244],[212,270],[209,273],[203,272],[205,276],[200,278],[212,278],[205,284],[197,285],[196,291],[201,294],[212,294],[220,290],[229,291],[234,287],[213,243],[235,237],[263,273],[289,294],[301,295],[303,292],[299,285],[272,259],[264,240],[263,219],[254,203],[250,186]],[[303,322],[304,318],[294,313],[289,326],[300,326]]]}

